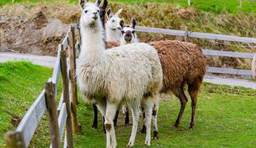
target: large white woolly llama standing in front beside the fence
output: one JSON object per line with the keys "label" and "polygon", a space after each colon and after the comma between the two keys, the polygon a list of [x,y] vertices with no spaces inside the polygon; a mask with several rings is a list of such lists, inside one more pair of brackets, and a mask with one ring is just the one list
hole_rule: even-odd
{"label": "large white woolly llama standing in front beside the fence", "polygon": [[[162,86],[162,69],[156,49],[137,43],[106,50],[104,29],[95,4],[80,0],[81,53],[78,57],[78,84],[81,94],[95,100],[105,117],[106,147],[116,147],[113,119],[124,103],[133,113],[133,128],[127,146],[133,146],[140,116],[140,104],[146,114],[145,144],[150,146],[150,120],[154,99]],[[111,139],[111,143],[110,143]]]}

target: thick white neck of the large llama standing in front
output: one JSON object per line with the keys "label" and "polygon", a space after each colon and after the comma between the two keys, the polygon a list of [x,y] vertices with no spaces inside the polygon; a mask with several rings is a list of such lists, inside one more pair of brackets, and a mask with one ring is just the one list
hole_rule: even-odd
{"label": "thick white neck of the large llama standing in front", "polygon": [[81,56],[90,57],[90,59],[99,59],[102,57],[102,52],[105,50],[105,36],[102,31],[102,26],[91,28],[81,23]]}

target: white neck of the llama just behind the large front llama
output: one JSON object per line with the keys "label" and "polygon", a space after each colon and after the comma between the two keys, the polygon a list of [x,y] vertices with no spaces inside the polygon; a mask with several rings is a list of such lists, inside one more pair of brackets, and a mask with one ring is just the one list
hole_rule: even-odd
{"label": "white neck of the llama just behind the large front llama", "polygon": [[106,41],[108,42],[119,42],[121,37],[121,32],[119,29],[110,29],[106,25]]}

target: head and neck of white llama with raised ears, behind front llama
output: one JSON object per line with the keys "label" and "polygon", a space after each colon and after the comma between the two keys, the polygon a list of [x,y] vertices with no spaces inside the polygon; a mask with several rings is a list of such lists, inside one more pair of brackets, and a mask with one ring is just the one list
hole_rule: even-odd
{"label": "head and neck of white llama with raised ears, behind front llama", "polygon": [[107,11],[107,21],[106,21],[106,41],[107,42],[120,42],[121,25],[120,22],[124,23],[124,20],[119,18],[122,8],[119,9],[116,14],[113,14],[111,8]]}

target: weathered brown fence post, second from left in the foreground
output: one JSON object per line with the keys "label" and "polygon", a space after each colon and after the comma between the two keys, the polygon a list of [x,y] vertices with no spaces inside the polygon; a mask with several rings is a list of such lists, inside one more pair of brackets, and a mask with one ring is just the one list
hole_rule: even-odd
{"label": "weathered brown fence post, second from left in the foreground", "polygon": [[57,121],[57,109],[55,104],[55,86],[53,82],[46,82],[45,99],[50,123],[50,142],[54,148],[61,148],[60,130]]}

